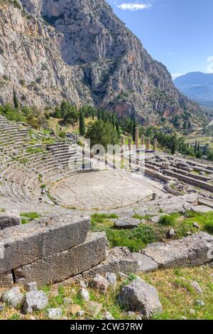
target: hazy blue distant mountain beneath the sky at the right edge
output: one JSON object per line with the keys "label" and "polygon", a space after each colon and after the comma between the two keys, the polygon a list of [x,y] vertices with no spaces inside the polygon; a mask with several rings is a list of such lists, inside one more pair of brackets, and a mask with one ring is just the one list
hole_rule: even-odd
{"label": "hazy blue distant mountain beneath the sky at the right edge", "polygon": [[213,73],[192,72],[174,80],[175,86],[188,98],[213,108]]}

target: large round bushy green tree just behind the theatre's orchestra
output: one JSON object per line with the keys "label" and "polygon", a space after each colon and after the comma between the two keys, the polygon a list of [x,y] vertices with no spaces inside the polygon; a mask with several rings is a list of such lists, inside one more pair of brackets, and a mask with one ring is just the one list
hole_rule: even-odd
{"label": "large round bushy green tree just behind the theatre's orchestra", "polygon": [[116,145],[119,143],[119,137],[113,125],[103,120],[97,120],[89,125],[86,138],[90,139],[91,147],[94,145],[103,145],[107,150],[107,145]]}

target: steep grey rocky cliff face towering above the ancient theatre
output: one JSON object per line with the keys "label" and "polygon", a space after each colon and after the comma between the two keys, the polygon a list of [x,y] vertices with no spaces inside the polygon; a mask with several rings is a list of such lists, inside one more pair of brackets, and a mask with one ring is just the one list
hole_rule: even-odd
{"label": "steep grey rocky cliff face towering above the ancient theatre", "polygon": [[[92,103],[146,124],[190,110],[165,66],[153,61],[104,0],[0,2],[0,100]],[[195,116],[197,117],[197,116]]]}

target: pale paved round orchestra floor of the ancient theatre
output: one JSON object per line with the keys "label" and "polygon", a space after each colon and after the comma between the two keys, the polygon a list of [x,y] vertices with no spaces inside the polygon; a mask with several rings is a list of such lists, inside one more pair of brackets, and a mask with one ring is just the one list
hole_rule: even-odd
{"label": "pale paved round orchestra floor of the ancient theatre", "polygon": [[153,192],[157,182],[129,172],[107,170],[75,174],[55,183],[50,194],[58,204],[75,209],[116,209],[136,204]]}

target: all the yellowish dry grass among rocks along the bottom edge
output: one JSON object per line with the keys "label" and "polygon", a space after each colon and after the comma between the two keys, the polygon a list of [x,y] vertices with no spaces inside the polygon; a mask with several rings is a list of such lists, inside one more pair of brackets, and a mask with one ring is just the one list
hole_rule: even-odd
{"label": "all the yellowish dry grass among rocks along the bottom edge", "polygon": [[[163,313],[156,315],[155,319],[209,319],[213,320],[213,268],[201,266],[197,268],[178,268],[168,270],[158,270],[153,273],[139,274],[147,283],[157,288],[160,302],[163,305]],[[195,292],[190,283],[197,281],[202,288],[203,295]],[[116,289],[110,288],[107,295],[98,293],[88,288],[91,301],[103,304],[102,312],[97,319],[103,318],[105,311],[109,311],[115,319],[129,319],[126,310],[122,309],[116,301],[116,296],[121,288],[118,282]],[[127,283],[127,282],[126,282]],[[2,292],[3,289],[0,289]],[[70,313],[71,306],[63,303],[63,298],[72,298],[72,302],[81,306],[84,310],[84,319],[93,319],[91,310],[87,303],[80,298],[80,286],[70,283],[69,286],[50,286],[43,287],[47,293],[50,304],[48,308],[62,308],[63,319],[80,319]],[[204,306],[198,306],[196,301],[204,301]],[[46,319],[47,309],[33,313],[36,319]],[[13,310],[6,307],[0,313],[0,319],[31,319],[32,315],[23,315],[21,310]]]}

